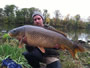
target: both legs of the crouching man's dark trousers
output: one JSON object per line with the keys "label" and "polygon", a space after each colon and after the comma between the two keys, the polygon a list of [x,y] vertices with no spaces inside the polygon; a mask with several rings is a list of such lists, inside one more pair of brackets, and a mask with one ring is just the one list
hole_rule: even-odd
{"label": "both legs of the crouching man's dark trousers", "polygon": [[[43,60],[43,55],[39,49],[35,49],[32,52],[24,52],[24,57],[33,68],[40,68],[40,62]],[[46,68],[61,68],[60,61],[48,64]]]}

